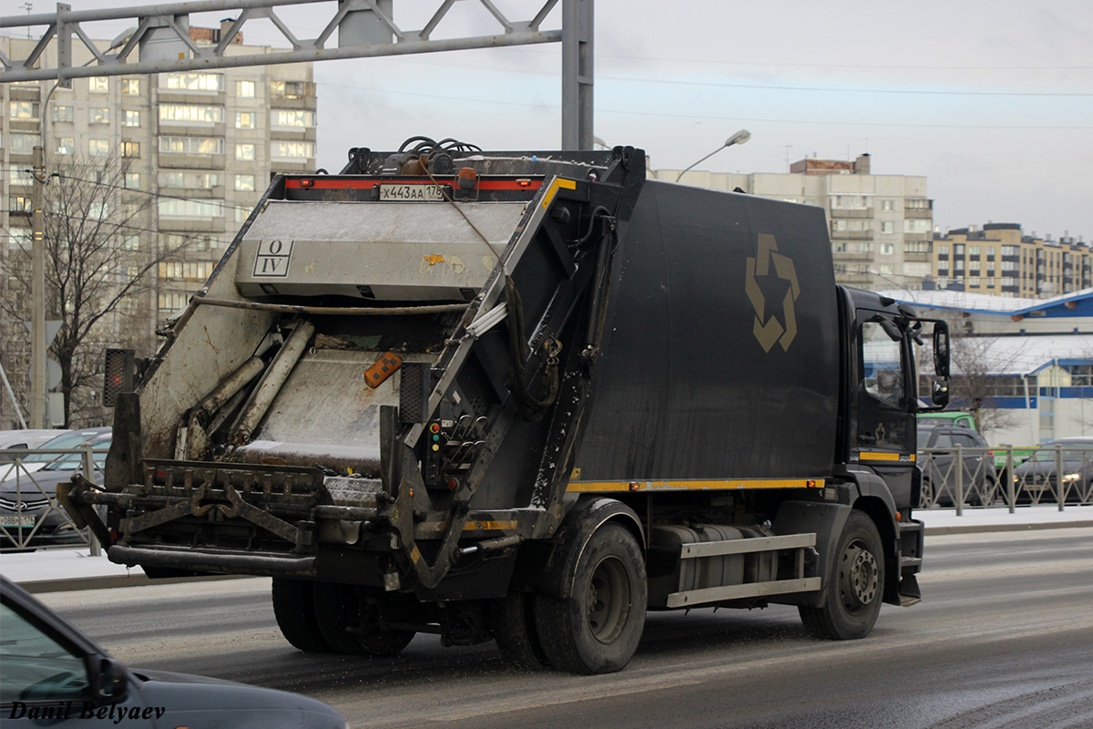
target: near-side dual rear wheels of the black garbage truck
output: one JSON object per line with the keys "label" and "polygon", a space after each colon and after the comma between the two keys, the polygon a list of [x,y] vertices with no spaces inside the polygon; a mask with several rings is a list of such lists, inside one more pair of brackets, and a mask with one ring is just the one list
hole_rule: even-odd
{"label": "near-side dual rear wheels of the black garbage truck", "polygon": [[616,524],[597,529],[577,562],[573,596],[536,596],[536,628],[551,666],[580,674],[625,668],[642,639],[646,596],[633,534]]}

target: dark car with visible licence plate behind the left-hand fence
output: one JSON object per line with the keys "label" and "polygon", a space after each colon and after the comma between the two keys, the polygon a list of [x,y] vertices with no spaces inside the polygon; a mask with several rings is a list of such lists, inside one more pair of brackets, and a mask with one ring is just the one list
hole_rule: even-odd
{"label": "dark car with visible licence plate behind the left-hand fence", "polygon": [[[105,433],[86,442],[95,467],[91,481],[102,483],[110,438],[110,433]],[[33,549],[86,541],[57,503],[57,484],[83,470],[83,454],[52,458],[34,473],[20,472],[0,483],[0,546]]]}

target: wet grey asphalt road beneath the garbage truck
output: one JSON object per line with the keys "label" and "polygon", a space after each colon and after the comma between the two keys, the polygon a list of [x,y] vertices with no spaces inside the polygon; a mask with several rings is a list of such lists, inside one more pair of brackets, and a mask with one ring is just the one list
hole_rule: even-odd
{"label": "wet grey asphalt road beneath the garbage truck", "polygon": [[492,644],[309,656],[269,580],[38,596],[130,666],[321,698],[361,727],[1093,727],[1093,529],[929,537],[924,601],[821,642],[796,609],[654,613],[626,670],[521,673]]}

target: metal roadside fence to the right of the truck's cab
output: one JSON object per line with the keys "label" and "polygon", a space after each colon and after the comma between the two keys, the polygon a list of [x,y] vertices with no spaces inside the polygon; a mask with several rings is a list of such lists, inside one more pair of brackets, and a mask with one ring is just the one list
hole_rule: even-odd
{"label": "metal roadside fence to the right of the truck's cab", "polygon": [[[927,448],[919,508],[1008,507],[1093,504],[1093,449]],[[1059,479],[1059,474],[1062,475]]]}

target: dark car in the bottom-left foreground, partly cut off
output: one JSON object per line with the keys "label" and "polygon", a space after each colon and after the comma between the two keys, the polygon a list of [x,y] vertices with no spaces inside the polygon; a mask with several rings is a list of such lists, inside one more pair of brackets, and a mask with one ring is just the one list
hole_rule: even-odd
{"label": "dark car in the bottom-left foreground, partly cut off", "polygon": [[337,709],[298,694],[129,669],[2,576],[0,603],[4,727],[345,729]]}

